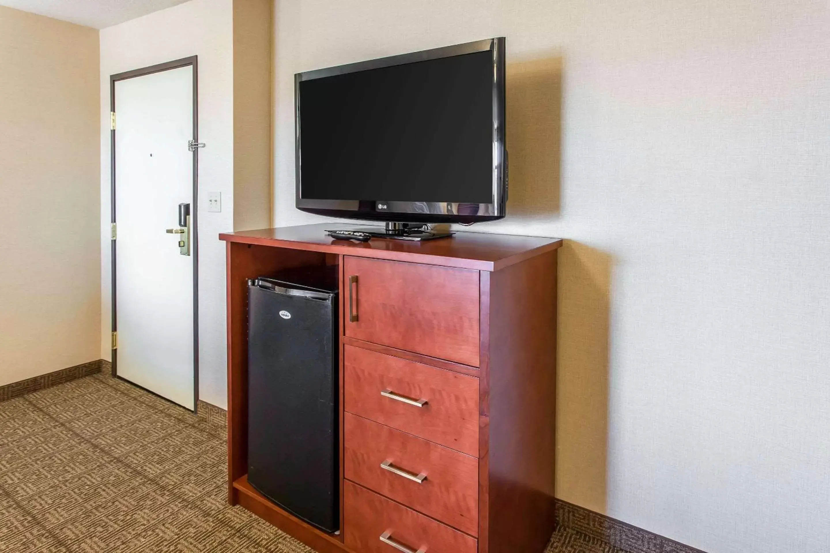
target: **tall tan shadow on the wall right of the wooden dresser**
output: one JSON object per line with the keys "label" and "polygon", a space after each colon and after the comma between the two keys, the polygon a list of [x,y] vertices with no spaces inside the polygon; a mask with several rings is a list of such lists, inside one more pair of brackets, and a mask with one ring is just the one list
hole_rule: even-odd
{"label": "tall tan shadow on the wall right of the wooden dresser", "polygon": [[559,250],[556,497],[606,513],[611,255]]}

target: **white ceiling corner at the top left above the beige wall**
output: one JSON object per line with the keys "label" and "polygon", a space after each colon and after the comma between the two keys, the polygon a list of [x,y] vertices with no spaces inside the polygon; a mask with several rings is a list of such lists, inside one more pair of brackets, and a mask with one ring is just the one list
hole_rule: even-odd
{"label": "white ceiling corner at the top left above the beige wall", "polygon": [[0,0],[0,5],[103,29],[188,0]]}

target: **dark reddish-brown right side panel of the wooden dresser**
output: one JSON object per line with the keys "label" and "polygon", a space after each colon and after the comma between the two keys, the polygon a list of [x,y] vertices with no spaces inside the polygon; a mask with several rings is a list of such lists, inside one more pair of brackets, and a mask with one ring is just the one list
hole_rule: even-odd
{"label": "dark reddish-brown right side panel of the wooden dresser", "polygon": [[556,252],[490,278],[488,553],[542,553],[555,527]]}

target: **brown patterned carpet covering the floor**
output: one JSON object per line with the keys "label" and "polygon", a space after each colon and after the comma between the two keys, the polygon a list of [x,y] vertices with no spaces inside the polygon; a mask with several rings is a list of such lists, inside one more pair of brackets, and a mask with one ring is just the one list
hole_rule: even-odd
{"label": "brown patterned carpet covering the floor", "polygon": [[[227,506],[225,461],[222,424],[103,374],[2,402],[0,551],[313,553]],[[622,553],[566,529],[559,552]]]}

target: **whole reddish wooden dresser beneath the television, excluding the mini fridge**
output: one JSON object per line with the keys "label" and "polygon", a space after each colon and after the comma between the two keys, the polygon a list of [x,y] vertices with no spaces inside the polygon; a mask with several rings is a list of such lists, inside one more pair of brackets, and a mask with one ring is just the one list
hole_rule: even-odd
{"label": "whole reddish wooden dresser beneath the television, excluding the mini fridge", "polygon": [[[462,232],[227,242],[228,499],[320,553],[541,553],[554,531],[561,240]],[[334,226],[339,226],[334,224]],[[329,534],[247,483],[247,279],[339,274],[340,520]]]}

